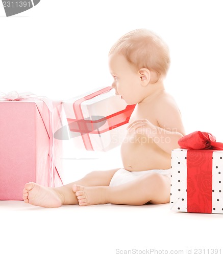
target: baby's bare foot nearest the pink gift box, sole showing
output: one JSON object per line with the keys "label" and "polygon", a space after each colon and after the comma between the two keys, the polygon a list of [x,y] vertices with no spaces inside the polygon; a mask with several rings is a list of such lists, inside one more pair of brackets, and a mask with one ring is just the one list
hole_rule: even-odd
{"label": "baby's bare foot nearest the pink gift box, sole showing", "polygon": [[60,207],[59,194],[51,187],[43,187],[34,182],[29,182],[23,189],[23,200],[25,203],[42,207]]}

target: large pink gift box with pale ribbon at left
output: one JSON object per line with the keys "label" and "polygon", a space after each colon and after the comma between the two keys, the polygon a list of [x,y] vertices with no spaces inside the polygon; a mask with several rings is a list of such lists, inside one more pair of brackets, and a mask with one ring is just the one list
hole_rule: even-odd
{"label": "large pink gift box with pale ribbon at left", "polygon": [[24,184],[62,185],[62,102],[13,92],[0,99],[0,200],[22,200]]}

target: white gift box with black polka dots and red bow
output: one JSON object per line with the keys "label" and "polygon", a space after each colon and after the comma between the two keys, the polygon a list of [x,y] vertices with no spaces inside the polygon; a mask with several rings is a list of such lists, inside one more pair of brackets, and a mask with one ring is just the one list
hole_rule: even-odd
{"label": "white gift box with black polka dots and red bow", "polygon": [[171,154],[170,208],[223,214],[223,143],[209,133],[179,140]]}

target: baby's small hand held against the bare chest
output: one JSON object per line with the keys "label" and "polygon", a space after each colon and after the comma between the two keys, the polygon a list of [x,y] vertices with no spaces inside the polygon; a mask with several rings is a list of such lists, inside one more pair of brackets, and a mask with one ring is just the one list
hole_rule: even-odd
{"label": "baby's small hand held against the bare chest", "polygon": [[130,133],[147,135],[149,138],[154,138],[157,135],[157,126],[152,124],[147,119],[138,119],[132,122],[127,127],[127,130]]}

